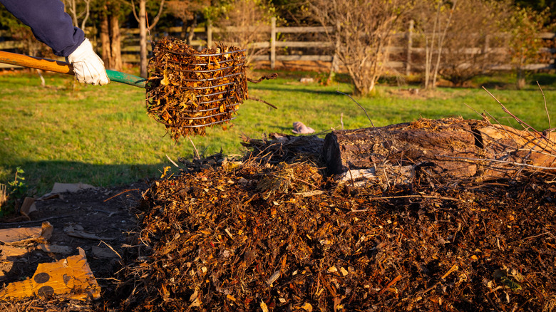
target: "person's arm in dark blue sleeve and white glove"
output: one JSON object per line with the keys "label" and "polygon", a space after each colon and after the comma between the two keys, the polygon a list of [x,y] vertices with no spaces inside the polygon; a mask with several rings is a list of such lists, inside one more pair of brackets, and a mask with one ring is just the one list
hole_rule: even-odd
{"label": "person's arm in dark blue sleeve and white glove", "polygon": [[81,83],[105,85],[104,63],[93,51],[83,31],[73,26],[61,0],[0,0],[6,9],[31,27],[35,37],[52,48],[57,56],[65,56]]}

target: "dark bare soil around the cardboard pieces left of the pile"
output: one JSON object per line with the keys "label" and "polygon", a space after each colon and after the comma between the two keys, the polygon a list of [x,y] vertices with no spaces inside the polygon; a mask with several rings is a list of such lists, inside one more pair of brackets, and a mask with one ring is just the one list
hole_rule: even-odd
{"label": "dark bare soil around the cardboard pieces left of the pile", "polygon": [[[14,281],[21,281],[33,276],[37,265],[64,259],[78,254],[78,247],[83,249],[91,271],[101,286],[101,296],[110,296],[115,288],[113,279],[115,271],[122,268],[119,255],[125,254],[124,246],[128,244],[128,234],[136,226],[133,207],[137,206],[141,194],[148,188],[147,182],[137,182],[130,185],[95,189],[84,189],[74,193],[55,194],[49,198],[38,200],[36,212],[31,212],[31,222],[21,221],[1,222],[0,229],[14,227],[40,227],[43,220],[53,226],[53,234],[48,240],[50,245],[67,246],[69,254],[46,253],[35,249],[35,244],[27,246],[29,252],[23,257],[9,259],[2,262],[0,267],[4,271],[1,280],[3,286]],[[20,218],[21,219],[21,218]],[[83,239],[69,236],[64,228],[68,226],[83,227],[83,232],[95,234],[103,239]],[[110,247],[108,247],[110,246]],[[111,250],[113,249],[113,251]],[[115,254],[115,252],[118,254]],[[29,300],[14,303],[0,303],[2,311],[20,311]],[[51,311],[71,310],[74,303],[41,303],[45,309]],[[89,304],[78,304],[80,310]],[[92,306],[91,306],[92,308]]]}

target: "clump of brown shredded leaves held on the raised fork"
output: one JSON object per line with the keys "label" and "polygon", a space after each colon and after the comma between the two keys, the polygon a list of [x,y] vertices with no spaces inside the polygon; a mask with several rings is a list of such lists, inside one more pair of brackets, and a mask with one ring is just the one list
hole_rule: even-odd
{"label": "clump of brown shredded leaves held on the raised fork", "polygon": [[149,62],[147,110],[174,140],[205,135],[207,126],[234,119],[247,99],[245,50],[217,46],[197,51],[183,41],[157,41]]}

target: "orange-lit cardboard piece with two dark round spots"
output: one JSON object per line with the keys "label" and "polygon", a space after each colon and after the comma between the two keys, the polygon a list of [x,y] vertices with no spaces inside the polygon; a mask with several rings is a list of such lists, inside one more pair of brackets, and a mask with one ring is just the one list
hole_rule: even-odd
{"label": "orange-lit cardboard piece with two dark round spots", "polygon": [[0,300],[32,296],[61,296],[76,300],[101,298],[101,287],[87,263],[85,251],[49,264],[38,264],[31,279],[8,284],[0,290]]}

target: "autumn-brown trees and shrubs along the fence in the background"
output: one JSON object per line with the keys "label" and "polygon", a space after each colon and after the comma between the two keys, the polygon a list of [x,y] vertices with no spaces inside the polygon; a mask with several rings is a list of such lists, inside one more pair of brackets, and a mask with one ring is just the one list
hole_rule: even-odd
{"label": "autumn-brown trees and shrubs along the fence in the background", "polygon": [[[221,29],[217,41],[262,53],[254,43],[272,17],[283,26],[326,26],[323,38],[349,73],[357,95],[374,93],[388,68],[388,46],[411,21],[415,40],[424,46],[423,86],[439,78],[462,84],[497,64],[512,63],[518,87],[525,84],[528,63],[542,57],[537,34],[554,30],[556,0],[63,0],[76,26],[98,38],[107,68],[122,69],[122,27],[140,28],[140,75],[147,76],[148,33],[181,26],[192,41],[196,26]],[[2,7],[0,29],[24,42],[25,53],[48,56],[48,48]],[[470,51],[469,47],[484,48]],[[507,53],[500,53],[500,50]]]}

